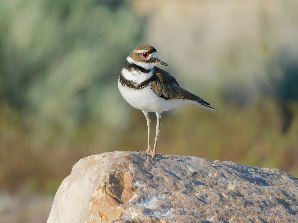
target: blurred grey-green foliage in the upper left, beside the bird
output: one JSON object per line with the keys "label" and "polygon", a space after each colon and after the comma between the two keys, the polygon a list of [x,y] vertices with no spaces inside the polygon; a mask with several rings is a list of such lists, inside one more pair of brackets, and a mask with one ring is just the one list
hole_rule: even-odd
{"label": "blurred grey-green foliage in the upper left, beside the bird", "polygon": [[[141,33],[124,1],[1,3],[0,98],[25,112],[32,131],[60,134],[90,118],[111,118],[109,100]],[[107,112],[108,111],[108,112]]]}

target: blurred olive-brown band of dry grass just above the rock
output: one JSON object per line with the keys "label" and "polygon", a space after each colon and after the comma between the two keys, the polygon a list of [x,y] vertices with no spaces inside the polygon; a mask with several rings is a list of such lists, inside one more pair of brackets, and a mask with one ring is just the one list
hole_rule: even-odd
{"label": "blurred olive-brown band of dry grass just above the rock", "polygon": [[[158,152],[281,168],[298,176],[298,106],[291,107],[294,119],[283,133],[278,106],[269,99],[258,98],[243,108],[218,103],[217,112],[181,106],[162,115]],[[1,106],[0,120],[0,189],[11,192],[55,193],[80,158],[147,146],[146,121],[138,110],[129,114],[127,126],[90,122],[71,140],[55,135],[56,143],[34,139],[7,105]]]}

